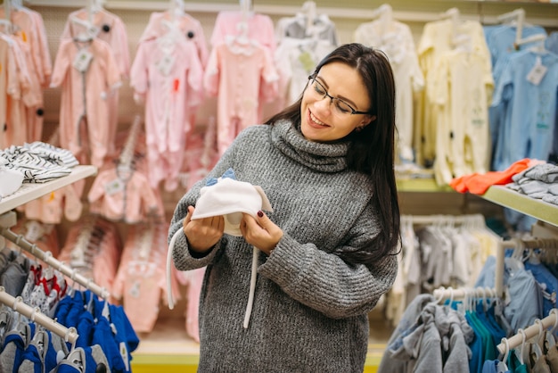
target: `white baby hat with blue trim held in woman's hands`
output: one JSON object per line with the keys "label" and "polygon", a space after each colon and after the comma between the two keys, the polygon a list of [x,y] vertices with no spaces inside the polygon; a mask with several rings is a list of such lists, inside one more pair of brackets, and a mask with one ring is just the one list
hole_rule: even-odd
{"label": "white baby hat with blue trim held in woman's hands", "polygon": [[242,212],[256,218],[260,210],[273,211],[263,189],[237,180],[234,170],[228,169],[220,178],[209,178],[201,188],[192,220],[223,215],[225,233],[242,236]]}

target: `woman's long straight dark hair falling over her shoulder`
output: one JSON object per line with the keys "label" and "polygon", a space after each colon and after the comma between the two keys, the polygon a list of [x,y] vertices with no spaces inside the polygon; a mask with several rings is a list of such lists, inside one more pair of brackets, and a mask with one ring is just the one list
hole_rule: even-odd
{"label": "woman's long straight dark hair falling over her shoulder", "polygon": [[[395,82],[390,62],[381,51],[352,43],[339,46],[316,66],[314,75],[328,63],[342,62],[358,71],[368,90],[372,115],[369,125],[359,132],[351,132],[345,139],[351,145],[347,154],[349,169],[369,174],[373,180],[373,204],[377,208],[381,232],[369,247],[356,252],[341,253],[350,263],[373,263],[395,253],[399,240],[399,204],[395,181]],[[299,100],[275,114],[267,124],[290,120],[300,124]]]}

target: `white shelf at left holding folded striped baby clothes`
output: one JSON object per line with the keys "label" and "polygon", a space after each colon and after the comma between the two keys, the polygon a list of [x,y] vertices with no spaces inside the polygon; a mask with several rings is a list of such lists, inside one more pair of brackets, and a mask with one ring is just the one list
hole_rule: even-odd
{"label": "white shelf at left holding folded striped baby clothes", "polygon": [[66,187],[82,178],[94,176],[97,168],[91,165],[76,166],[72,169],[70,175],[63,178],[57,178],[45,184],[24,183],[12,195],[5,196],[0,201],[0,215],[4,212],[11,211],[21,204],[33,201],[43,195],[47,195],[61,187]]}

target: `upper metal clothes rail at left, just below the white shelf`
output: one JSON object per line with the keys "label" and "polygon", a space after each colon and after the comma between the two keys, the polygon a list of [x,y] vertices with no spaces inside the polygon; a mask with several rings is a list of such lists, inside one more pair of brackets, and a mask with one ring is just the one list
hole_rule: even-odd
{"label": "upper metal clothes rail at left, just below the white shelf", "polygon": [[37,245],[30,243],[24,236],[12,232],[10,228],[0,227],[0,236],[4,236],[4,238],[21,247],[21,249],[31,253],[33,256],[37,257],[41,261],[44,261],[54,269],[58,269],[62,272],[62,274],[71,278],[73,281],[76,281],[79,285],[90,289],[94,294],[101,296],[103,299],[108,299],[111,296],[108,290],[95,284],[92,278],[86,278],[85,276],[77,273],[76,269],[72,269],[62,263],[62,261],[58,261],[53,257],[52,253],[45,253],[39,249]]}

